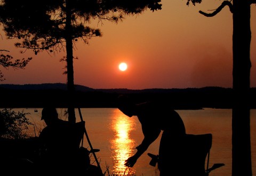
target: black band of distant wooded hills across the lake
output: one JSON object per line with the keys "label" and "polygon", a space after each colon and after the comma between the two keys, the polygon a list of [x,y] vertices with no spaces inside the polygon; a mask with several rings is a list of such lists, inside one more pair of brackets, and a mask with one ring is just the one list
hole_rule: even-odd
{"label": "black band of distant wooded hills across the lake", "polygon": [[[67,85],[0,84],[0,108],[40,108],[48,104],[65,108],[68,105]],[[256,108],[256,88],[250,89],[249,105]],[[161,101],[174,109],[232,108],[233,90],[223,87],[187,89],[91,89],[76,85],[75,107],[115,108],[120,94],[129,95],[134,102]]]}

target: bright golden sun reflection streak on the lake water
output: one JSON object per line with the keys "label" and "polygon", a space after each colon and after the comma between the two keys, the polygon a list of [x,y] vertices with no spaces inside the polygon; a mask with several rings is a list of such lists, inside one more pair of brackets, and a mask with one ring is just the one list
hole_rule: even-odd
{"label": "bright golden sun reflection streak on the lake water", "polygon": [[114,161],[114,173],[118,175],[130,175],[135,173],[135,170],[126,167],[125,160],[133,155],[135,142],[130,138],[130,133],[133,131],[135,122],[133,118],[129,118],[117,112],[112,118],[111,128],[114,131],[114,138],[111,140],[111,151]]}

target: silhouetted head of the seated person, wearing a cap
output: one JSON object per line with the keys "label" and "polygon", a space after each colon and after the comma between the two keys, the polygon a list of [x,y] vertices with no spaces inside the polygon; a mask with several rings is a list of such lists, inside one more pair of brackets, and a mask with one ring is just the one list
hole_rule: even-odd
{"label": "silhouetted head of the seated person, wearing a cap", "polygon": [[43,108],[41,120],[44,120],[46,125],[51,124],[51,122],[55,121],[56,119],[58,119],[58,113],[56,108],[54,107]]}

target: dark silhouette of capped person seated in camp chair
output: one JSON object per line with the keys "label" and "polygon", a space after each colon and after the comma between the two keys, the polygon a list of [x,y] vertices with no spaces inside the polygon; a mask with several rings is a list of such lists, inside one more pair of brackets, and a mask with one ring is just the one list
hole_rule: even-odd
{"label": "dark silhouette of capped person seated in camp chair", "polygon": [[58,118],[57,110],[45,107],[42,120],[46,127],[39,134],[41,157],[39,163],[45,169],[58,174],[73,172],[79,161],[79,144],[84,134],[84,122],[71,124]]}

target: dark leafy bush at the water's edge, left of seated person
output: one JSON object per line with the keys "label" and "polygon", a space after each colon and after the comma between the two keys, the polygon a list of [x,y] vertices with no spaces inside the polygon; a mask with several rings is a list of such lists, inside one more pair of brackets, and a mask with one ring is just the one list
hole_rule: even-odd
{"label": "dark leafy bush at the water's edge, left of seated person", "polygon": [[27,133],[29,126],[33,125],[29,122],[24,111],[15,112],[12,109],[2,109],[0,111],[1,133],[0,137],[7,139],[26,139],[30,135]]}

